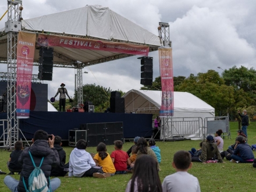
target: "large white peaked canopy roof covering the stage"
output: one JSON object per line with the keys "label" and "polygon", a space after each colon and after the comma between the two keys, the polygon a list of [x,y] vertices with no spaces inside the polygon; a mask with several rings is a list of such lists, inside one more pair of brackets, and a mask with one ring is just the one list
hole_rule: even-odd
{"label": "large white peaked canopy roof covering the stage", "polygon": [[[24,12],[24,11],[23,11]],[[156,26],[156,30],[157,30]],[[31,19],[22,20],[22,30],[61,35],[67,37],[122,42],[133,45],[147,45],[150,51],[161,46],[157,35],[150,33],[118,13],[100,5],[87,5],[83,8],[66,10]],[[0,31],[0,62],[7,61],[7,34]],[[85,67],[132,56],[109,51],[54,47],[55,67]],[[34,65],[37,65],[39,50],[35,50]]]}

